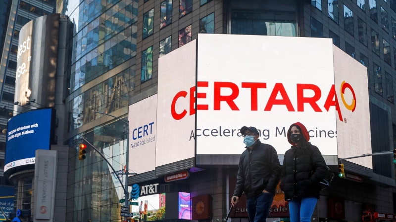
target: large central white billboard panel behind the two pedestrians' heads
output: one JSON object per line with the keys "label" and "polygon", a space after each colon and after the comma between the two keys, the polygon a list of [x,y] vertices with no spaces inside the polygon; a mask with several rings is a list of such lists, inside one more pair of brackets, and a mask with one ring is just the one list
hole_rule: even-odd
{"label": "large central white billboard panel behind the two pedestrians' heads", "polygon": [[[198,36],[197,154],[241,154],[242,126],[284,154],[295,122],[337,155],[333,44],[326,38]],[[199,95],[200,94],[200,95]],[[330,95],[331,96],[331,95]]]}

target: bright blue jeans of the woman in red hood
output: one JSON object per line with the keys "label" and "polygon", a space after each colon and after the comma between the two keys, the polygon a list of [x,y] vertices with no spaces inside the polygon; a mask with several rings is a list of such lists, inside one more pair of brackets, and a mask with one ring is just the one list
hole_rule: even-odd
{"label": "bright blue jeans of the woman in red hood", "polygon": [[290,222],[311,222],[316,202],[318,199],[315,197],[289,200]]}

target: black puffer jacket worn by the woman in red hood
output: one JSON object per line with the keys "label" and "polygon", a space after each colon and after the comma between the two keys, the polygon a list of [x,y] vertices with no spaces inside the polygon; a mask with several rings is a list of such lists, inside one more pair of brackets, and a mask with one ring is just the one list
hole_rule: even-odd
{"label": "black puffer jacket worn by the woman in red hood", "polygon": [[280,186],[285,192],[285,200],[299,197],[319,199],[319,182],[326,175],[326,162],[319,149],[313,145],[299,155],[297,149],[299,148],[292,147],[287,150],[283,158]]}

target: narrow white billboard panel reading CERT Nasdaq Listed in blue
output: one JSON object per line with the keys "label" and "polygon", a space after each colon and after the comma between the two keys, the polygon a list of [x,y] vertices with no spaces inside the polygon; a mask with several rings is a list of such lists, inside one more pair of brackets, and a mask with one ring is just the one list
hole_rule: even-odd
{"label": "narrow white billboard panel reading CERT Nasdaq Listed in blue", "polygon": [[129,106],[129,168],[135,173],[155,170],[157,94]]}

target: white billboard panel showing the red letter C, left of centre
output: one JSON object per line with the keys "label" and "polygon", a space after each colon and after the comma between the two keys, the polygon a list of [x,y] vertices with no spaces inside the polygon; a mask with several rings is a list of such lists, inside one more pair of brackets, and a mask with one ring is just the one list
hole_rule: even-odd
{"label": "white billboard panel showing the red letter C, left of centre", "polygon": [[195,157],[196,40],[158,60],[155,166]]}

